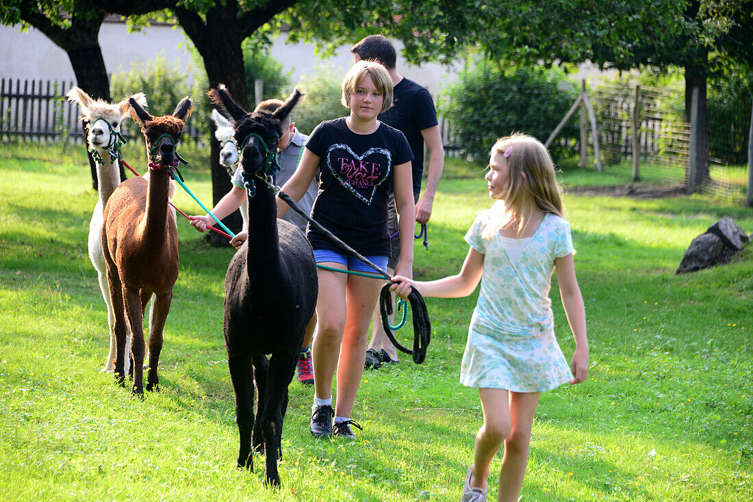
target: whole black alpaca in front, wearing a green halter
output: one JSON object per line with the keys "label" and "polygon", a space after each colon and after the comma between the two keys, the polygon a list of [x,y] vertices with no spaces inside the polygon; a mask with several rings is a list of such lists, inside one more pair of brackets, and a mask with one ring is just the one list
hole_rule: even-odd
{"label": "whole black alpaca in front, wearing a green halter", "polygon": [[240,165],[245,180],[254,182],[253,187],[248,183],[248,239],[230,261],[225,278],[224,337],[240,433],[238,466],[253,470],[252,448],[266,452],[264,484],[273,486],[279,485],[277,458],[282,456],[288,385],[314,313],[319,281],[311,245],[297,227],[277,219],[275,194],[258,176],[269,172],[267,152],[276,152],[282,121],[300,96],[295,90],[273,114],[249,114],[224,85],[209,91],[215,106],[233,118]]}

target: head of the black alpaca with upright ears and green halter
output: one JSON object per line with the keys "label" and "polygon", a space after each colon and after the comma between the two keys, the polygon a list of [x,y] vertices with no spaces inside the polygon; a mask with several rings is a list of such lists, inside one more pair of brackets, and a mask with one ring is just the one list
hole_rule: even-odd
{"label": "head of the black alpaca with upright ears and green halter", "polygon": [[276,163],[277,143],[282,137],[282,122],[293,111],[303,93],[294,90],[274,113],[253,111],[248,113],[233,101],[227,87],[220,84],[209,91],[212,103],[233,119],[235,143],[240,152],[240,165],[249,177],[267,172],[272,162]]}

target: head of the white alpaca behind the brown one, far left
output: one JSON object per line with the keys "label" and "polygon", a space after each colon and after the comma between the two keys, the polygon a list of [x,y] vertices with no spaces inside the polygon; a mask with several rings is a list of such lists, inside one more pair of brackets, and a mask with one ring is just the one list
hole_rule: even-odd
{"label": "head of the white alpaca behind the brown one, far left", "polygon": [[128,117],[128,100],[133,99],[142,107],[146,106],[144,93],[136,93],[115,104],[104,99],[93,99],[78,87],[72,87],[66,96],[81,108],[81,119],[88,124],[87,143],[100,155],[114,149],[117,141],[115,133],[120,132],[120,124]]}

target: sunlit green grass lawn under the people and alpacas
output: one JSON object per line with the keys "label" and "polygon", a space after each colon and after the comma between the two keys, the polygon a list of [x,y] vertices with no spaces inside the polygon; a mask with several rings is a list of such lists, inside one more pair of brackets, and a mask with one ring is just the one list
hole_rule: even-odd
{"label": "sunlit green grass lawn under the people and alpacas", "polygon": [[[181,169],[188,186],[211,202],[205,154],[181,154],[191,163]],[[416,242],[419,278],[459,269],[465,231],[489,205],[479,166],[455,175],[453,162],[428,251]],[[562,184],[599,184],[589,171],[563,168]],[[263,457],[255,473],[234,467],[238,433],[221,334],[231,251],[209,248],[178,221],[181,269],[162,391],[134,400],[99,373],[107,319],[86,251],[96,193],[83,148],[4,144],[0,175],[0,500],[457,500],[481,424],[477,392],[458,382],[475,295],[427,299],[433,338],[425,364],[403,357],[364,374],[354,410],[364,431],[355,443],[312,439],[312,389],[293,382],[283,485],[267,491]],[[200,211],[184,193],[175,202]],[[542,396],[523,500],[748,500],[753,247],[726,266],[674,271],[710,224],[730,216],[751,232],[753,214],[705,196],[571,193],[565,202],[591,367],[584,384]],[[552,296],[569,357],[574,344],[556,284]],[[496,487],[492,476],[490,500]]]}

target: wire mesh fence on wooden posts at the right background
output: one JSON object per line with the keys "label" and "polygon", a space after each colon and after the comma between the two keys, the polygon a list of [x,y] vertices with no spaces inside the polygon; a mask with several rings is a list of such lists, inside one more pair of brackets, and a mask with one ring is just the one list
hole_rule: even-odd
{"label": "wire mesh fence on wooden posts at the right background", "polygon": [[[684,118],[684,89],[640,87],[636,91],[635,86],[627,84],[600,84],[590,93],[605,164],[633,158],[633,111],[637,108],[640,176],[687,188],[691,126]],[[706,113],[709,177],[698,190],[742,200],[748,181],[750,111],[739,105],[721,106],[709,99]]]}

